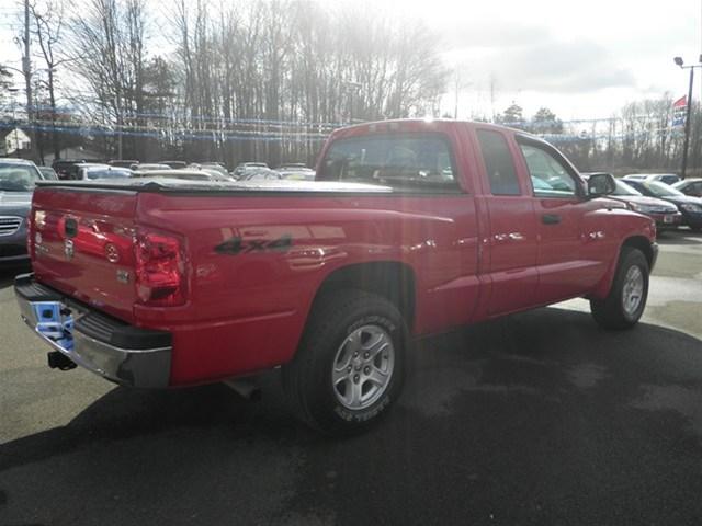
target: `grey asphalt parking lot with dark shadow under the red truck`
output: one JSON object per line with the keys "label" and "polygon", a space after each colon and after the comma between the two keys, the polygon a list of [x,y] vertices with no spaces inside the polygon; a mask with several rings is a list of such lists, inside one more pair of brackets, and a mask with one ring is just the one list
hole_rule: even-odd
{"label": "grey asphalt parking lot with dark shadow under the red truck", "polygon": [[702,236],[664,232],[644,322],[574,300],[423,340],[370,433],[225,386],[46,367],[0,275],[0,525],[700,524]]}

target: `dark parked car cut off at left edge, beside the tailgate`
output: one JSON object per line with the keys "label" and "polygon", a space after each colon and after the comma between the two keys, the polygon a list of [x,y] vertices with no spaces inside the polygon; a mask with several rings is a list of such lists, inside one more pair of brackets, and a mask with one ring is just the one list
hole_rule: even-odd
{"label": "dark parked car cut off at left edge, beside the tailgate", "polygon": [[32,161],[0,159],[0,264],[29,261],[27,217],[42,174]]}

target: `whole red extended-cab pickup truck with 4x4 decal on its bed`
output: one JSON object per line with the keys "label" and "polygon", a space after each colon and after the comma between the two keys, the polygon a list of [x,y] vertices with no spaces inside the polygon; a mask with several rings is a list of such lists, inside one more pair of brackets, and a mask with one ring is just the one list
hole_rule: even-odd
{"label": "whole red extended-cab pickup truck with 4x4 decal on its bed", "polygon": [[362,124],[314,182],[41,184],[15,294],[54,367],[159,388],[282,366],[299,416],[343,434],[397,399],[418,335],[574,297],[634,325],[656,230],[613,183],[518,130]]}

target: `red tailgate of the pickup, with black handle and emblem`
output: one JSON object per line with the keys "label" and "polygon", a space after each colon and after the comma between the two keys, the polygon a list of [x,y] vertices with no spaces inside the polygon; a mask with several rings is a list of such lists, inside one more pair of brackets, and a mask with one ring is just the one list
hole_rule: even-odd
{"label": "red tailgate of the pickup, with black handle and emblem", "polygon": [[30,232],[37,279],[132,322],[136,203],[132,191],[37,188]]}

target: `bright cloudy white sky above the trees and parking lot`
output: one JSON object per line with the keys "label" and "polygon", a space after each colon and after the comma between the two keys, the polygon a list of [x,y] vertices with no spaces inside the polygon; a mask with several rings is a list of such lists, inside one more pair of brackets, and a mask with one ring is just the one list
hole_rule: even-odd
{"label": "bright cloudy white sky above the trees and parking lot", "polygon": [[[442,55],[457,68],[463,85],[461,118],[490,116],[512,101],[525,116],[547,106],[563,119],[607,117],[637,99],[666,91],[678,98],[688,77],[672,57],[697,61],[702,50],[700,0],[376,3],[418,16],[442,35]],[[0,61],[14,67],[21,64],[11,34],[18,4],[0,0]],[[701,87],[698,82],[695,98]],[[450,90],[444,105],[453,113]]]}

